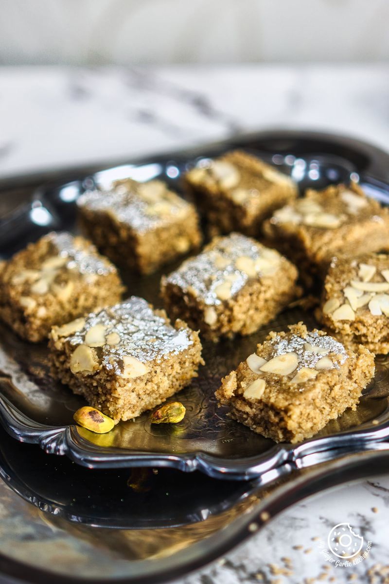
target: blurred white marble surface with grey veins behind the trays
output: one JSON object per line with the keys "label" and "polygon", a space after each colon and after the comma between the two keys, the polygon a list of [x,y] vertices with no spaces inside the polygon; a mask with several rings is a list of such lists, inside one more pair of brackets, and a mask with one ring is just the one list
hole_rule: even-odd
{"label": "blurred white marble surface with grey veins behind the trays", "polygon": [[384,64],[11,67],[0,88],[0,177],[274,127],[389,144]]}

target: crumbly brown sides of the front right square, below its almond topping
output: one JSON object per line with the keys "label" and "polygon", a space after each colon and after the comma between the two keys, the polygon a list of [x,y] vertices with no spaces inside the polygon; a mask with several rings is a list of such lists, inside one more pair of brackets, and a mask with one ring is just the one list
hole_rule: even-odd
{"label": "crumbly brown sides of the front right square, below its almond topping", "polygon": [[[272,352],[269,341],[275,336],[305,338],[307,328],[299,323],[291,325],[290,333],[271,332],[256,354],[266,359]],[[325,335],[325,332],[321,332]],[[262,397],[246,399],[244,390],[258,375],[249,369],[246,361],[221,381],[216,391],[220,405],[230,406],[230,415],[254,432],[276,442],[301,442],[314,436],[331,419],[347,408],[356,409],[362,390],[374,376],[374,355],[360,345],[356,352],[348,350],[348,359],[339,363],[339,369],[319,371],[314,379],[304,384],[291,383],[296,371],[288,376],[262,373],[266,387]]]}

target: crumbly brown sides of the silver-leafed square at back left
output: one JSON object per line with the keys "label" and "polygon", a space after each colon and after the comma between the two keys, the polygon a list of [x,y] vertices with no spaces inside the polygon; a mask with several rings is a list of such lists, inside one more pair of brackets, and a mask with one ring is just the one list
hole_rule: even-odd
{"label": "crumbly brown sides of the silver-leafed square at back left", "polygon": [[[182,201],[171,191],[166,191],[164,198],[172,203],[178,199]],[[169,216],[166,223],[147,231],[137,231],[121,222],[114,213],[91,210],[88,206],[79,208],[79,223],[114,263],[141,274],[155,272],[165,263],[198,249],[202,242],[199,216],[190,203],[175,220]]]}

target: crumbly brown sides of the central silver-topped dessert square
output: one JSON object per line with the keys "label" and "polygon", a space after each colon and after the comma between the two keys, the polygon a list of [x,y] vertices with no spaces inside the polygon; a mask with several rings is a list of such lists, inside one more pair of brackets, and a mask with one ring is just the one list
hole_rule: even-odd
{"label": "crumbly brown sides of the central silver-topped dessert square", "polygon": [[[211,249],[219,238],[215,238],[204,251]],[[257,245],[258,242],[255,242]],[[161,281],[161,295],[166,312],[171,318],[182,318],[190,328],[199,330],[204,338],[217,342],[221,337],[231,338],[235,334],[251,335],[259,327],[276,317],[291,301],[301,294],[296,286],[296,267],[283,256],[277,271],[269,276],[250,279],[235,296],[214,305],[216,319],[206,322],[209,307],[191,290],[184,291],[165,277]]]}

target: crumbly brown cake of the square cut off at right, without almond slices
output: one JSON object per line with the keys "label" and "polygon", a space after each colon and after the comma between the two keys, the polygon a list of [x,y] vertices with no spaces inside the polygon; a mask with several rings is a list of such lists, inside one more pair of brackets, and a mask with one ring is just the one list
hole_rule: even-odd
{"label": "crumbly brown cake of the square cut off at right, without almond slices", "polygon": [[[369,281],[385,282],[381,270],[389,270],[389,255],[386,253],[365,253],[354,258],[336,258],[328,270],[324,283],[320,307],[315,316],[327,331],[339,338],[342,343],[356,350],[359,345],[364,345],[372,353],[389,353],[389,317],[385,314],[373,315],[369,304],[357,308],[354,321],[335,320],[331,314],[323,314],[324,304],[334,298],[339,305],[348,304],[343,290],[350,286],[350,280],[359,280],[359,265],[364,263],[376,267],[376,273]],[[374,298],[372,296],[371,298]]]}

